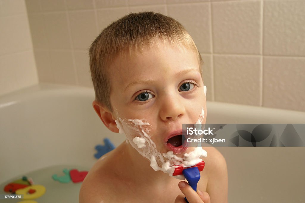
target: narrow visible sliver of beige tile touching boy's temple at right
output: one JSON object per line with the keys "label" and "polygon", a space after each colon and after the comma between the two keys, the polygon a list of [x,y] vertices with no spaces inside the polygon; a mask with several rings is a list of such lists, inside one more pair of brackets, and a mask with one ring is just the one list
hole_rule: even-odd
{"label": "narrow visible sliver of beige tile touching boy's temple at right", "polygon": [[213,100],[212,55],[201,54],[203,60],[203,83],[206,86],[206,100]]}

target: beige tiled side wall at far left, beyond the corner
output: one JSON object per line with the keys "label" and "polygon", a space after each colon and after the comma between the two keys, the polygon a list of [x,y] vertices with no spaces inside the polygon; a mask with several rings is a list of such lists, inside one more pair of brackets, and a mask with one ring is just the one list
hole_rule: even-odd
{"label": "beige tiled side wall at far left, beyond the corner", "polygon": [[0,0],[0,95],[38,83],[24,0]]}

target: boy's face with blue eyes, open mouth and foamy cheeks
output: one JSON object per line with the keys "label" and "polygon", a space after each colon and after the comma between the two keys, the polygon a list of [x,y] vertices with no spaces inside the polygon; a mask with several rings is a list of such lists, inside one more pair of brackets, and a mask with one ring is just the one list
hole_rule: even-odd
{"label": "boy's face with blue eyes, open mouth and foamy cheeks", "polygon": [[[129,142],[137,148],[133,139],[145,131],[160,153],[173,151],[181,157],[192,151],[175,147],[176,143],[172,143],[175,141],[169,144],[168,139],[182,134],[182,124],[196,123],[202,110],[205,115],[200,121],[206,121],[206,99],[197,54],[159,43],[159,47],[144,49],[142,54],[117,58],[111,69],[113,116],[120,119]],[[130,119],[144,119],[146,124],[141,128]]]}

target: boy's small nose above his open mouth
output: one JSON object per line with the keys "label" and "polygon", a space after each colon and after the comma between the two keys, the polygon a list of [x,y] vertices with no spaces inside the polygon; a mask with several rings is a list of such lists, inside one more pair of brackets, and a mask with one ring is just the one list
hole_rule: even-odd
{"label": "boy's small nose above his open mouth", "polygon": [[175,121],[185,114],[185,106],[181,98],[168,96],[161,101],[160,117],[163,121]]}

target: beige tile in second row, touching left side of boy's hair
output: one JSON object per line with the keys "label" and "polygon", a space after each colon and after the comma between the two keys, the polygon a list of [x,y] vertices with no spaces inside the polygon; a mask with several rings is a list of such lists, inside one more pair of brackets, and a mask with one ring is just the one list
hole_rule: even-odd
{"label": "beige tile in second row, touching left side of boy's hair", "polygon": [[88,49],[97,33],[94,11],[69,12],[69,22],[73,48]]}

